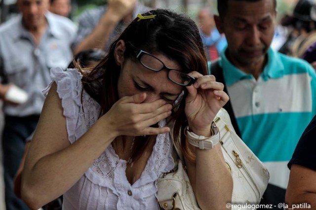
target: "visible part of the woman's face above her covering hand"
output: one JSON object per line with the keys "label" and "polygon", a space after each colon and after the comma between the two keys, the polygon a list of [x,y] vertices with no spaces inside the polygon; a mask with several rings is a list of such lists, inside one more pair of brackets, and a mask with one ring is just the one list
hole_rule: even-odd
{"label": "visible part of the woman's face above her covering hand", "polygon": [[[165,66],[180,70],[180,66],[166,56],[155,54]],[[145,68],[138,60],[125,60],[122,62],[118,78],[118,97],[132,96],[139,93],[146,93],[144,103],[154,102],[163,99],[169,104],[180,95],[183,86],[173,83],[167,77],[167,70],[153,71]]]}

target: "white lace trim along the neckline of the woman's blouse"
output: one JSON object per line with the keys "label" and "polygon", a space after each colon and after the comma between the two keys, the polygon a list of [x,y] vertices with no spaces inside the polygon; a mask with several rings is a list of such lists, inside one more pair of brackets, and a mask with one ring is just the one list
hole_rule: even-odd
{"label": "white lace trim along the neckline of the woman's blouse", "polygon": [[[165,120],[158,123],[159,127],[163,127],[165,124]],[[118,166],[119,163],[122,165]],[[143,185],[155,182],[161,173],[169,171],[173,169],[173,167],[174,162],[172,158],[172,146],[169,134],[160,134],[157,136],[153,152],[148,159],[147,165],[142,175],[133,183],[132,187],[139,188]],[[119,160],[118,155],[115,153],[112,145],[109,145],[107,150],[99,156],[99,158],[92,164],[85,175],[93,183],[115,190],[115,174],[124,176],[121,177],[120,180],[124,180],[126,181],[125,184],[129,184],[125,177],[125,170],[126,161]]]}

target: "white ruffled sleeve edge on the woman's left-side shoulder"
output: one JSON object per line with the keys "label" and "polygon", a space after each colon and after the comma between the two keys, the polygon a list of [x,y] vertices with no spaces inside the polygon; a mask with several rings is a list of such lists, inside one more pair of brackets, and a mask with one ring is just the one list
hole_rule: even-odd
{"label": "white ruffled sleeve edge on the woman's left-side shoulder", "polygon": [[42,93],[47,95],[53,82],[57,84],[57,93],[62,102],[64,116],[66,117],[66,125],[68,138],[71,143],[76,140],[76,130],[79,121],[79,115],[82,113],[82,75],[77,69],[67,69],[63,71],[61,68],[52,68],[50,70],[52,81]]}

